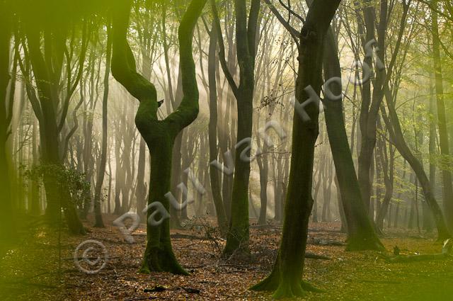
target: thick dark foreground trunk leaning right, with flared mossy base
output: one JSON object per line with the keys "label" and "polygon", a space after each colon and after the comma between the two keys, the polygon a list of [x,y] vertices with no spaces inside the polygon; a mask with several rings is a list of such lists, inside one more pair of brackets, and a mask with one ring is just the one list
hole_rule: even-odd
{"label": "thick dark foreground trunk leaning right, with flared mossy base", "polygon": [[[311,87],[319,96],[322,84],[324,37],[340,0],[317,0],[311,4],[302,27],[299,45],[299,71],[296,99],[309,100],[304,91]],[[313,96],[311,96],[313,97]],[[282,241],[273,272],[253,290],[275,290],[273,297],[303,296],[309,285],[302,282],[308,223],[313,198],[314,147],[319,134],[319,104],[312,101],[304,107],[309,120],[302,120],[294,111],[292,127],[292,157],[285,204]]]}

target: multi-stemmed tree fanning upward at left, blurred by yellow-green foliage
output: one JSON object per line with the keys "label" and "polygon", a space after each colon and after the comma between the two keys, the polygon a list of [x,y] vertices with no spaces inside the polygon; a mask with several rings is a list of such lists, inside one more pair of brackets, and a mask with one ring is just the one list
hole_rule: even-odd
{"label": "multi-stemmed tree fanning upward at left, blurred by yellow-green foliage", "polygon": [[[18,9],[21,31],[16,38],[21,39],[23,47],[23,59],[19,59],[19,66],[25,77],[27,96],[40,125],[41,164],[49,167],[43,174],[46,215],[52,224],[56,224],[60,208],[63,208],[69,231],[84,234],[85,229],[71,200],[69,187],[52,173],[52,169],[65,169],[69,140],[78,127],[75,123],[74,127],[67,129],[66,121],[71,98],[84,72],[88,41],[93,29],[88,28],[90,12],[91,9],[96,11],[97,6],[89,9],[88,6],[81,6],[71,13],[68,13],[68,7],[66,1],[57,5],[21,5]],[[81,40],[79,47],[76,47],[75,39]]]}

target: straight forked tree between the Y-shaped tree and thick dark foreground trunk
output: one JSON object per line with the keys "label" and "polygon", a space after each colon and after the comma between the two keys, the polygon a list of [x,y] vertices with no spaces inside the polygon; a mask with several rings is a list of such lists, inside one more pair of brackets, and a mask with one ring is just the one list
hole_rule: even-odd
{"label": "straight forked tree between the Y-shaped tree and thick dark foreground trunk", "polygon": [[[256,43],[259,30],[260,1],[252,0],[247,9],[245,0],[234,1],[236,17],[236,57],[239,64],[239,85],[228,68],[225,59],[224,40],[220,28],[219,14],[214,0],[214,23],[219,35],[219,58],[222,70],[236,98],[237,105],[237,144],[234,158],[234,180],[231,193],[231,217],[224,255],[236,251],[248,253],[248,181],[250,176],[250,142],[253,125],[253,89],[255,88]],[[248,11],[248,16],[247,16]]]}

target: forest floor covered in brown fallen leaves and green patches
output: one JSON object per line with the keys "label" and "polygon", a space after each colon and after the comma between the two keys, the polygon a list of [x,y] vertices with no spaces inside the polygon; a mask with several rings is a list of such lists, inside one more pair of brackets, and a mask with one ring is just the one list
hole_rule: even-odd
{"label": "forest floor covered in brown fallen leaves and green patches", "polygon": [[[277,253],[281,228],[251,227],[251,257],[220,259],[224,241],[206,220],[192,220],[172,230],[173,249],[190,276],[138,273],[145,245],[141,225],[134,243],[125,241],[106,216],[107,227],[86,222],[86,236],[37,230],[8,251],[0,251],[0,300],[271,300],[269,293],[248,288],[270,271]],[[345,234],[338,223],[310,225],[307,251],[328,260],[306,259],[304,280],[325,293],[307,293],[304,300],[453,300],[453,259],[388,263],[374,251],[345,251]],[[398,246],[401,254],[437,254],[442,249],[432,235],[386,229],[382,239],[388,254]],[[108,253],[104,268],[86,274],[74,263],[74,250],[87,239],[101,242]],[[326,246],[324,244],[339,244]],[[96,249],[96,248],[95,248]],[[61,252],[59,251],[61,250]],[[94,254],[96,251],[91,250]],[[87,255],[93,256],[93,255]],[[61,259],[61,260],[59,260]],[[90,258],[91,259],[91,258]],[[96,269],[104,261],[91,259],[84,268]]]}

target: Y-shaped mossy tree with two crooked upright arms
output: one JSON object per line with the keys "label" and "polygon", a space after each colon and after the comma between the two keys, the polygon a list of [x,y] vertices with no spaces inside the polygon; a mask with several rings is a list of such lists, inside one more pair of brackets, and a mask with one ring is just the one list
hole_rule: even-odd
{"label": "Y-shaped mossy tree with two crooked upright arms", "polygon": [[[127,42],[127,29],[131,1],[115,4],[113,13],[112,73],[132,96],[140,102],[135,124],[147,142],[151,156],[148,204],[161,203],[167,212],[170,204],[165,194],[171,191],[171,157],[178,133],[190,125],[198,114],[198,89],[195,63],[192,57],[193,30],[206,0],[193,0],[188,5],[178,29],[180,47],[180,72],[183,100],[176,111],[164,120],[158,120],[156,89],[147,79],[136,72],[135,60]],[[154,210],[148,210],[151,217]],[[187,274],[173,254],[168,218],[159,225],[147,223],[147,247],[144,251],[142,271],[167,271]]]}

